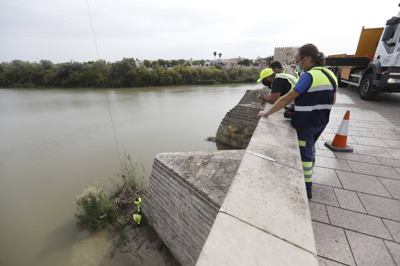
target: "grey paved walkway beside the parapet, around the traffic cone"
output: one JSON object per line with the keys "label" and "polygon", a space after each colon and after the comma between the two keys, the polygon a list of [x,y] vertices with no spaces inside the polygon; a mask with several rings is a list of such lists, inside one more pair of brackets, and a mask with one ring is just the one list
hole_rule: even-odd
{"label": "grey paved walkway beside the parapet, around the traffic cone", "polygon": [[[332,152],[324,142],[346,110],[354,152]],[[309,204],[320,265],[400,266],[400,94],[364,101],[339,88],[317,144]]]}

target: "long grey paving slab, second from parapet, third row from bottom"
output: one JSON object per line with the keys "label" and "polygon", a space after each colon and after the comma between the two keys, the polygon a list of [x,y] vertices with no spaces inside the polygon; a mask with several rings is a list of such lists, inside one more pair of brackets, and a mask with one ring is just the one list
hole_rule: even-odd
{"label": "long grey paving slab, second from parapet, third row from bottom", "polygon": [[326,206],[330,223],[338,227],[350,229],[379,238],[393,240],[388,229],[379,217],[357,213],[332,206]]}

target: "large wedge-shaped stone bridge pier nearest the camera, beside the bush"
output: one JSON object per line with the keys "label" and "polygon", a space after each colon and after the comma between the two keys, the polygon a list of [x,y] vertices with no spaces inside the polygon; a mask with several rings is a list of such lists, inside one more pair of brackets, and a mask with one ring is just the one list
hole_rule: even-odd
{"label": "large wedge-shaped stone bridge pier nearest the camera, beside the bush", "polygon": [[181,265],[196,263],[244,152],[156,155],[142,211]]}

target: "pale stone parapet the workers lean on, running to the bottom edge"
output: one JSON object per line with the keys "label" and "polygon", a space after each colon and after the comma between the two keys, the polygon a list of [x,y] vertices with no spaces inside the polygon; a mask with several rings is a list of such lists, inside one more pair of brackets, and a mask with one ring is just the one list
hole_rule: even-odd
{"label": "pale stone parapet the workers lean on, running to the bottom edge", "polygon": [[260,118],[196,265],[260,264],[318,265],[298,139],[283,110]]}

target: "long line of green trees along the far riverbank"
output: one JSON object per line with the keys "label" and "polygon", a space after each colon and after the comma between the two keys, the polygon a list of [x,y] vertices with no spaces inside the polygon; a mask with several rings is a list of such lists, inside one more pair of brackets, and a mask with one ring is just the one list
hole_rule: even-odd
{"label": "long line of green trees along the far riverbank", "polygon": [[[157,61],[123,58],[113,63],[105,60],[84,63],[54,64],[49,60],[28,62],[13,60],[0,63],[0,86],[15,87],[147,87],[218,83],[255,82],[257,68],[227,68],[215,64],[200,67],[204,60],[193,61],[198,67],[189,67],[186,60]],[[149,64],[150,63],[150,64]],[[167,66],[171,66],[168,68]],[[152,67],[153,69],[148,69]]]}

